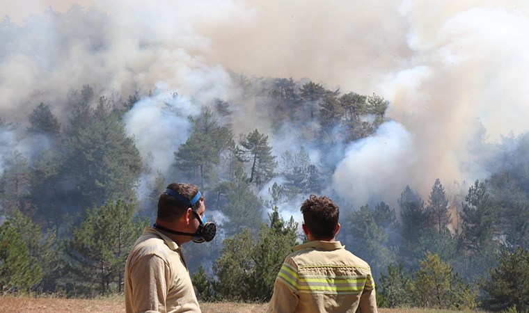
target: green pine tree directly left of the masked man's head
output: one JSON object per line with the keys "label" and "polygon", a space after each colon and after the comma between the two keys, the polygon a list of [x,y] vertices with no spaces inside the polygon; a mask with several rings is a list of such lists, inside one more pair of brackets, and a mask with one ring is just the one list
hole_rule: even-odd
{"label": "green pine tree directly left of the masked man's head", "polygon": [[134,204],[117,200],[88,209],[68,241],[72,258],[72,284],[81,294],[121,291],[125,260],[146,221],[134,218]]}

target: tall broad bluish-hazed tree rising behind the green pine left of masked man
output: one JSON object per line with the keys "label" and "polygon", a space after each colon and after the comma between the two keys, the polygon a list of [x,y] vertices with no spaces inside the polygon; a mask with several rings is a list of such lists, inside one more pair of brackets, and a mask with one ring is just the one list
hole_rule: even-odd
{"label": "tall broad bluish-hazed tree rising behind the green pine left of masked man", "polygon": [[83,90],[74,107],[67,133],[68,173],[77,178],[81,208],[100,206],[105,199],[134,199],[141,158],[125,125],[111,103],[100,97],[90,109],[90,89]]}

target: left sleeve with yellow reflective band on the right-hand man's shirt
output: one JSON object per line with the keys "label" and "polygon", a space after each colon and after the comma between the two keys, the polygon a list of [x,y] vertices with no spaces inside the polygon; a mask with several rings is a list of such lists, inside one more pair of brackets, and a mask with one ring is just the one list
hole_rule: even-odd
{"label": "left sleeve with yellow reflective band on the right-hand man's shirt", "polygon": [[269,303],[268,312],[294,312],[299,302],[299,279],[297,266],[287,258],[274,283],[274,294]]}

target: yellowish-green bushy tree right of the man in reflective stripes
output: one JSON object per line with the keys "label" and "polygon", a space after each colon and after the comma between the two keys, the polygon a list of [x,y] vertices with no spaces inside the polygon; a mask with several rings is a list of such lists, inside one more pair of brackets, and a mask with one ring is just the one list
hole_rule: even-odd
{"label": "yellowish-green bushy tree right of the man in reflective stripes", "polygon": [[452,310],[473,310],[475,292],[439,255],[428,254],[420,262],[416,278],[409,284],[412,305]]}

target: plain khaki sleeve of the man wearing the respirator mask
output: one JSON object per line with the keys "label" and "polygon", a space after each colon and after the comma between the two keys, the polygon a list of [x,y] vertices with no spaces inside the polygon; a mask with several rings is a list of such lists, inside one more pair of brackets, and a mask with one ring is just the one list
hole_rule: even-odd
{"label": "plain khaki sleeve of the man wearing the respirator mask", "polygon": [[130,271],[134,312],[166,312],[169,275],[168,265],[157,255],[136,259]]}

